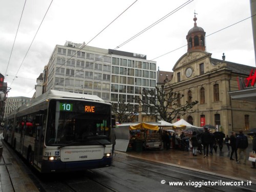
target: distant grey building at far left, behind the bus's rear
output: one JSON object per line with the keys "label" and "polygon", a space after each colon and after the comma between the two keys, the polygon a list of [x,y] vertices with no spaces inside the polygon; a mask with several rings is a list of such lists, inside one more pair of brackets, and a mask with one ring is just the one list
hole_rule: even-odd
{"label": "distant grey building at far left, behind the bus's rear", "polygon": [[29,102],[29,97],[7,97],[4,108],[4,118],[7,117],[13,110]]}

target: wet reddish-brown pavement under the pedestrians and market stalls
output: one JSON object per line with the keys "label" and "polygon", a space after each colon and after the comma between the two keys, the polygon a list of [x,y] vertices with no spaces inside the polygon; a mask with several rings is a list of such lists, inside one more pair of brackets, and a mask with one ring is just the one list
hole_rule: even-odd
{"label": "wet reddish-brown pavement under the pedestrians and market stalls", "polygon": [[[251,147],[248,147],[248,150]],[[153,161],[157,163],[163,163],[166,165],[181,167],[185,169],[195,170],[201,173],[207,173],[210,175],[217,175],[224,178],[234,179],[238,181],[252,181],[256,184],[256,169],[252,169],[251,161],[248,161],[249,153],[246,165],[243,163],[237,164],[235,160],[230,160],[230,152],[228,152],[226,146],[223,146],[223,152],[214,152],[213,156],[204,158],[203,155],[197,154],[194,157],[191,150],[189,152],[179,150],[162,150],[162,151],[143,151],[143,152],[119,152],[130,157],[144,159],[147,161]],[[234,158],[234,154],[233,154]]]}

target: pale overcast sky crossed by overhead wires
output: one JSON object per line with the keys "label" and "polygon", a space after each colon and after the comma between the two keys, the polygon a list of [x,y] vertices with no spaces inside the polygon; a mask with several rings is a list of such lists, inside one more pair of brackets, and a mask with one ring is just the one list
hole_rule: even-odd
{"label": "pale overcast sky crossed by overhead wires", "polygon": [[[249,0],[51,2],[52,0],[27,0],[25,4],[25,0],[1,1],[0,73],[8,75],[5,78],[11,88],[8,97],[32,97],[36,78],[47,65],[55,45],[64,45],[66,40],[87,44],[134,2],[88,46],[115,49],[188,2],[183,8],[117,50],[145,54],[148,60],[157,61],[157,67],[161,71],[172,71],[177,60],[187,52],[186,35],[194,27],[196,11],[197,25],[206,32],[206,51],[212,53],[212,58],[222,59],[222,54],[225,53],[227,61],[255,67],[251,19],[244,20],[251,16]],[[240,22],[241,20],[244,21]],[[233,25],[235,23],[238,24]],[[230,25],[233,26],[224,29]],[[182,46],[185,47],[180,48]]]}

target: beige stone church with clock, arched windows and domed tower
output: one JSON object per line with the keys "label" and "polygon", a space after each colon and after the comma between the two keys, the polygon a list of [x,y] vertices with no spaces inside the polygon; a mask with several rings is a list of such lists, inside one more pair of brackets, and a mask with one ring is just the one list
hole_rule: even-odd
{"label": "beige stone church with clock, arched windows and domed tower", "polygon": [[228,92],[238,90],[237,77],[247,77],[253,67],[211,58],[205,51],[205,32],[197,26],[188,31],[187,53],[176,62],[173,79],[165,84],[166,91],[173,88],[183,94],[181,103],[199,101],[194,106],[195,113],[177,119],[185,119],[190,124],[216,125],[218,131],[229,134],[239,129],[256,126],[254,116],[256,103],[232,100]]}

